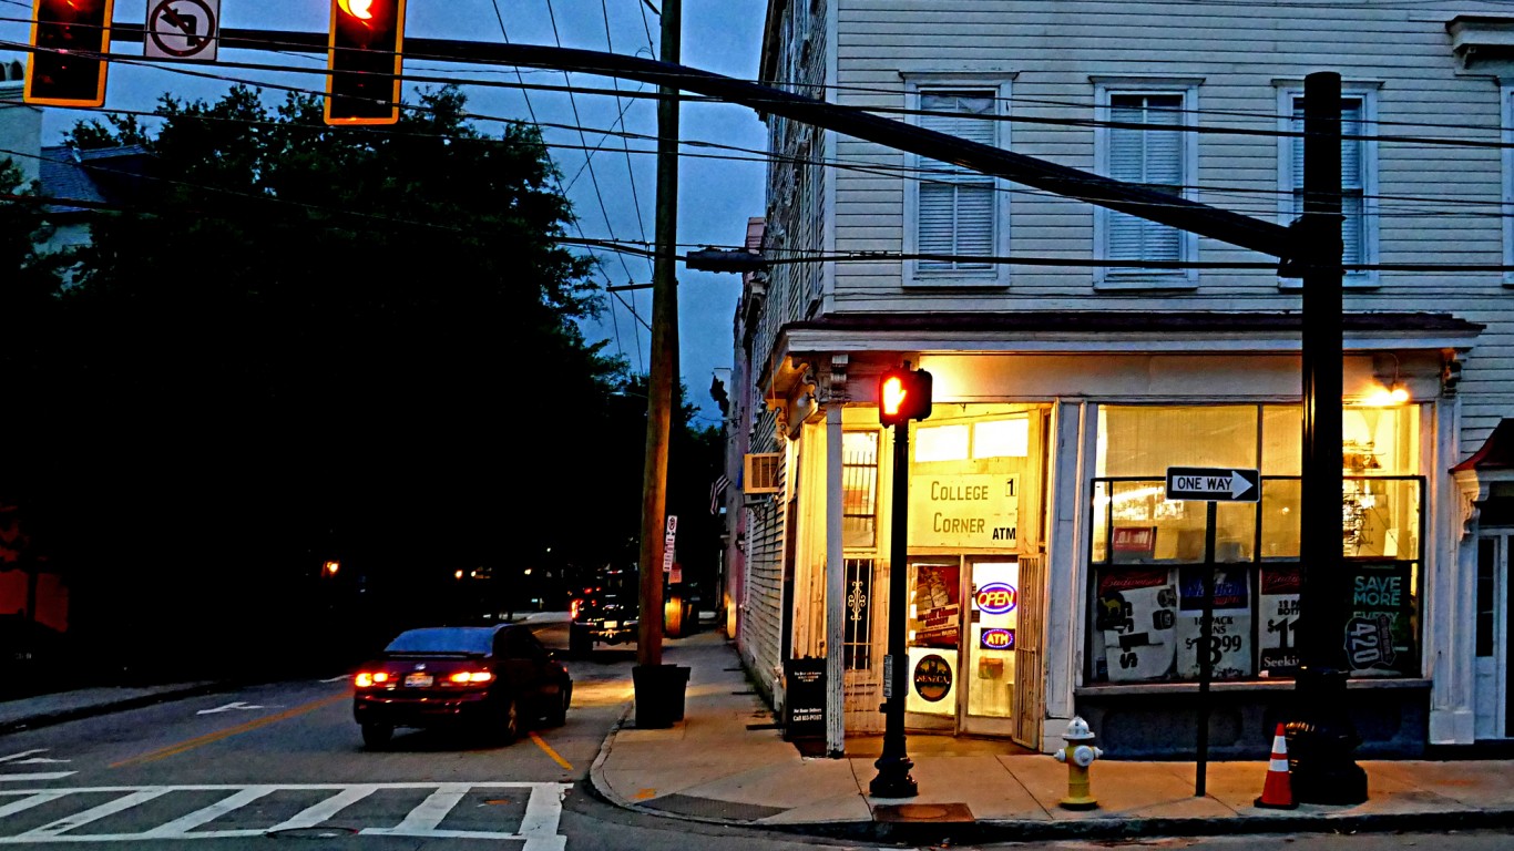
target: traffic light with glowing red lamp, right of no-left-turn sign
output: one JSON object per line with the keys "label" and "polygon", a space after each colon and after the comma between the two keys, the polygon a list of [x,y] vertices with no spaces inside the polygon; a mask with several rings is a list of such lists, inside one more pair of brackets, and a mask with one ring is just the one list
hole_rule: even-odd
{"label": "traffic light with glowing red lamp, right of no-left-turn sign", "polygon": [[404,0],[332,0],[327,124],[400,120]]}

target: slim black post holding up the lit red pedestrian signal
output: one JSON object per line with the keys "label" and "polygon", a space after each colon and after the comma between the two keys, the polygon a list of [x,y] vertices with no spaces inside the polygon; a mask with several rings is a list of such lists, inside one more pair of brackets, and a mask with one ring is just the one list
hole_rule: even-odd
{"label": "slim black post holding up the lit red pedestrian signal", "polygon": [[[905,366],[908,366],[905,363]],[[910,424],[893,427],[893,519],[889,530],[889,656],[884,657],[884,725],[883,754],[872,763],[878,775],[868,790],[875,798],[913,798],[921,793],[904,750],[904,695],[908,694],[908,651],[905,627],[910,618],[908,548],[910,548]]]}

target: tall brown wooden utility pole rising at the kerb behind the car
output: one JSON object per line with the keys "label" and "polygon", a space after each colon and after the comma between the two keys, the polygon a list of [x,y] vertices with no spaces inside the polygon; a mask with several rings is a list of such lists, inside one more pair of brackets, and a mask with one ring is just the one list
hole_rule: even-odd
{"label": "tall brown wooden utility pole rising at the kerb behind the car", "polygon": [[[681,0],[662,5],[662,61],[678,62]],[[646,465],[642,468],[640,624],[636,662],[662,665],[663,527],[668,509],[668,439],[678,363],[678,89],[657,101],[657,257],[653,260],[653,351],[646,379]]]}

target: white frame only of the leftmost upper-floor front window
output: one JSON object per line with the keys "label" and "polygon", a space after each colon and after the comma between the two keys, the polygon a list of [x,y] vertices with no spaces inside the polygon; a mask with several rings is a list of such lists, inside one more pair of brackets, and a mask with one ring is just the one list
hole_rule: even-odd
{"label": "white frame only of the leftmost upper-floor front window", "polygon": [[[1008,115],[1010,79],[1013,74],[936,74],[908,73],[905,76],[905,103],[908,109],[921,109],[921,95],[939,91],[983,91],[993,92],[993,114]],[[908,115],[908,121],[919,126],[919,115]],[[1008,121],[995,121],[993,145],[1008,148]],[[925,168],[930,157],[907,153],[905,167],[910,170]],[[992,177],[993,188],[993,238],[992,253],[1005,256],[1010,253],[1010,194],[1007,183]],[[921,253],[921,180],[916,174],[904,177],[904,253]],[[904,262],[904,286],[1008,286],[1010,265],[992,263],[986,270],[922,270],[919,260]]]}

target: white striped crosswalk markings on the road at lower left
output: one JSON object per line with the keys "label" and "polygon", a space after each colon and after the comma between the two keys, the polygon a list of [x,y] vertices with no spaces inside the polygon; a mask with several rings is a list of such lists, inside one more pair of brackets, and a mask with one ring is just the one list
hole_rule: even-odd
{"label": "white striped crosswalk markings on the road at lower left", "polygon": [[[17,796],[17,800],[0,804],[0,831],[5,819],[30,810],[41,804],[64,801],[73,795],[118,795],[103,804],[85,809],[70,816],[51,821],[14,836],[0,834],[0,845],[21,845],[41,842],[141,842],[144,839],[227,839],[265,836],[279,830],[300,827],[315,827],[345,807],[366,798],[380,789],[430,789],[431,793],[412,809],[395,827],[368,827],[359,830],[369,836],[407,836],[430,839],[512,839],[524,840],[522,851],[565,851],[568,837],[559,836],[559,821],[562,818],[562,803],[572,786],[568,783],[294,783],[294,784],[251,784],[251,786],[95,786],[80,789],[26,789],[0,790],[0,801]],[[441,827],[457,804],[474,790],[494,789],[525,789],[525,815],[516,833],[481,831],[481,830],[448,830]],[[277,790],[330,790],[333,795],[319,801],[291,819],[269,827],[238,828],[238,830],[195,830],[215,819],[239,810],[265,795]],[[173,795],[176,792],[226,792],[227,796],[201,807],[192,813],[173,821],[145,828],[136,833],[71,833],[74,828],[100,821],[106,816],[123,813],[147,801]],[[392,822],[391,822],[392,824]]]}

